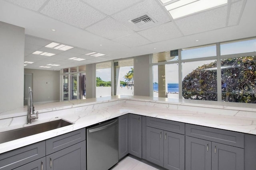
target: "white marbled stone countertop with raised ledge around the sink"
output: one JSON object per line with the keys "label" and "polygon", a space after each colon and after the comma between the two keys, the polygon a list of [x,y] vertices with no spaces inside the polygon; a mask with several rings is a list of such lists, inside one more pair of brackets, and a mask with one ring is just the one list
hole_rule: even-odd
{"label": "white marbled stone countertop with raised ledge around the sink", "polygon": [[[0,153],[88,127],[126,113],[256,135],[256,105],[175,100],[143,96],[110,96],[35,106],[39,118],[31,125],[64,119],[74,123],[0,144]],[[26,127],[26,107],[0,113],[0,132]]]}

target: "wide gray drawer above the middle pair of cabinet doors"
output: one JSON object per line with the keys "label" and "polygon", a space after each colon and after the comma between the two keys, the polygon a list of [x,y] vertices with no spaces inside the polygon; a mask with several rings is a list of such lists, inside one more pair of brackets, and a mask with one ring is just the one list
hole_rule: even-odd
{"label": "wide gray drawer above the middle pair of cabinet doors", "polygon": [[177,121],[146,117],[146,125],[169,132],[180,133],[182,135],[185,134],[185,123]]}

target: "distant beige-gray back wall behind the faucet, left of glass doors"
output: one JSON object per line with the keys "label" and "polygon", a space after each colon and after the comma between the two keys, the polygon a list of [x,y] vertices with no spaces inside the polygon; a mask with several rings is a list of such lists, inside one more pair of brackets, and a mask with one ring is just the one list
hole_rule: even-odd
{"label": "distant beige-gray back wall behind the faucet, left of glass doors", "polygon": [[24,69],[32,73],[34,104],[60,102],[60,71]]}

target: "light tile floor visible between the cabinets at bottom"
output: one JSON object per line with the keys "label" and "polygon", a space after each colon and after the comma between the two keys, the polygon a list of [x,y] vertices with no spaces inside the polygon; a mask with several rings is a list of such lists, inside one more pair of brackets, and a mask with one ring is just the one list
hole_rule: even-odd
{"label": "light tile floor visible between the cabinets at bottom", "polygon": [[110,170],[159,170],[159,169],[154,168],[153,166],[150,166],[143,162],[140,162],[139,160],[136,160],[134,158],[131,158],[130,156],[126,156],[124,159],[118,162]]}

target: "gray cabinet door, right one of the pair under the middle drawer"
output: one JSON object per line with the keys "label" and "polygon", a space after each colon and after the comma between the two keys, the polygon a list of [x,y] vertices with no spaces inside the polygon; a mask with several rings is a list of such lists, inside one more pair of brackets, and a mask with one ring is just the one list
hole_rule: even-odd
{"label": "gray cabinet door, right one of the pair under the middle drawer", "polygon": [[185,136],[164,131],[164,168],[185,169]]}

